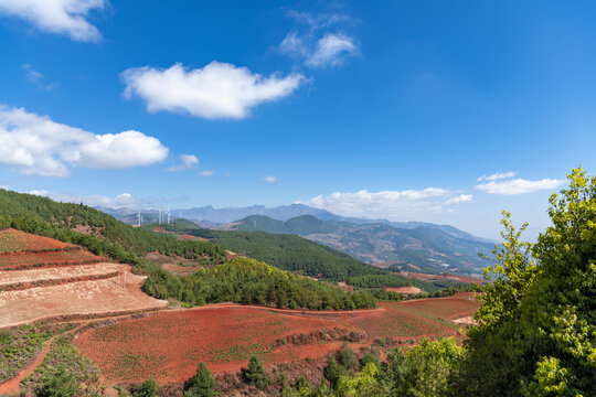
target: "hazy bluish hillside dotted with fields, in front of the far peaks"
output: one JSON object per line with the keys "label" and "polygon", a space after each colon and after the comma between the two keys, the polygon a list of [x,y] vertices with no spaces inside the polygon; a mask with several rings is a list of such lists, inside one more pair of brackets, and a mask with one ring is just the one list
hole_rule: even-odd
{"label": "hazy bluish hillside dotted with fields, in front of the far peaks", "polygon": [[299,235],[370,264],[397,262],[405,270],[428,272],[479,273],[486,264],[478,254],[493,248],[491,243],[451,226],[398,228],[385,223],[321,221],[311,215],[286,222],[253,215],[216,229]]}

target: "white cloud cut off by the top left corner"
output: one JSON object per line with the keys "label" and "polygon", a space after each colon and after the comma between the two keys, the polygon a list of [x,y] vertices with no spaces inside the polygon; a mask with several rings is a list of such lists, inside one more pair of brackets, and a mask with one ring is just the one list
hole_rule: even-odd
{"label": "white cloud cut off by the top left corner", "polygon": [[107,0],[0,0],[0,14],[22,18],[41,31],[91,42],[100,40],[102,34],[86,18],[107,4]]}

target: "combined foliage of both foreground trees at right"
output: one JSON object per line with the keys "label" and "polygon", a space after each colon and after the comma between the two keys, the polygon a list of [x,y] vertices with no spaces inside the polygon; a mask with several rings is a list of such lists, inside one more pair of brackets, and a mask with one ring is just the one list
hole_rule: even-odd
{"label": "combined foliage of both foreground trees at right", "polygon": [[535,245],[520,243],[505,214],[456,394],[596,395],[596,178],[568,178]]}

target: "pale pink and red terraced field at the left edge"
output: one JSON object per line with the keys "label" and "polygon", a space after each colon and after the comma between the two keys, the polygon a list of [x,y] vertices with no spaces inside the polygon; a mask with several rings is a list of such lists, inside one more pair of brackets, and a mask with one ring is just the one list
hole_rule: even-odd
{"label": "pale pink and red terraced field at the left edge", "polygon": [[143,280],[128,266],[81,247],[14,229],[0,232],[0,329],[166,307],[142,293]]}

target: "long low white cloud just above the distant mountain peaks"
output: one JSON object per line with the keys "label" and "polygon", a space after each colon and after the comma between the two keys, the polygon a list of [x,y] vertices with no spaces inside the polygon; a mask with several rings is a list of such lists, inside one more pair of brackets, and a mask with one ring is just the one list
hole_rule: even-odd
{"label": "long low white cloud just above the distant mountain peaks", "polygon": [[411,217],[413,213],[440,213],[446,206],[466,203],[471,195],[427,187],[424,190],[369,192],[336,192],[319,195],[302,204],[324,208],[345,216],[387,217],[400,219]]}

